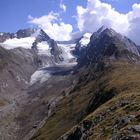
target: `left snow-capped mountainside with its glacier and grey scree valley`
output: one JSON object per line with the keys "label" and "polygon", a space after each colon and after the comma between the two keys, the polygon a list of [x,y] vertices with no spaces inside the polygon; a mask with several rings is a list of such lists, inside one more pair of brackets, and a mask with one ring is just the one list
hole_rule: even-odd
{"label": "left snow-capped mountainside with its glacier and grey scree valley", "polygon": [[43,30],[33,31],[19,30],[20,37],[16,33],[1,42],[0,139],[26,139],[74,80],[75,44],[58,43]]}

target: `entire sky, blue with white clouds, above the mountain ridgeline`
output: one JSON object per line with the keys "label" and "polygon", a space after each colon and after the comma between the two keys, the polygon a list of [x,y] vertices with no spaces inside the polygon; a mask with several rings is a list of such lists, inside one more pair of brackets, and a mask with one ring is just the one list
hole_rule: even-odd
{"label": "entire sky, blue with white clouds, above the mountain ridgeline", "polygon": [[38,26],[69,40],[102,25],[140,44],[140,0],[0,0],[0,32]]}

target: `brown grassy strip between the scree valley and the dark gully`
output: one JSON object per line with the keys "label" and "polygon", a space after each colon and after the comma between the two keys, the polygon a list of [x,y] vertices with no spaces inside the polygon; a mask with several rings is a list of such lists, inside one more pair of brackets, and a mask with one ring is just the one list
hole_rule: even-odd
{"label": "brown grassy strip between the scree valley and the dark gully", "polygon": [[[93,88],[90,85],[91,88]],[[55,140],[77,124],[81,113],[91,99],[91,91],[86,86],[69,97],[65,97],[57,106],[55,114],[51,116],[46,124],[32,138],[35,140]],[[80,98],[79,98],[80,97]]]}

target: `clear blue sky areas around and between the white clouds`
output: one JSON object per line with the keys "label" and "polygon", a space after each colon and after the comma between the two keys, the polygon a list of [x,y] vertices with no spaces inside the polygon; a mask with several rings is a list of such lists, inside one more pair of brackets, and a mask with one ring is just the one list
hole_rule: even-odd
{"label": "clear blue sky areas around and between the white clouds", "polygon": [[[65,23],[70,23],[75,28],[76,6],[86,6],[87,0],[64,0],[67,12],[61,14]],[[132,4],[139,0],[102,0],[111,4],[117,11],[127,13]],[[47,15],[50,11],[60,11],[60,0],[0,0],[0,31],[15,32],[20,28],[29,27],[28,15],[40,17]]]}

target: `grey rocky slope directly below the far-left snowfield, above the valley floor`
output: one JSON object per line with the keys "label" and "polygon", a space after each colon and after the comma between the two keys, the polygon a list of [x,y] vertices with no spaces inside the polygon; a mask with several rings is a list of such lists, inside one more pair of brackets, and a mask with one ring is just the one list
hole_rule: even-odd
{"label": "grey rocky slope directly below the far-left snowfield, above the valley floor", "polygon": [[5,50],[0,47],[1,96],[9,100],[18,95],[19,90],[27,87],[31,74],[37,69],[36,59],[31,50]]}

